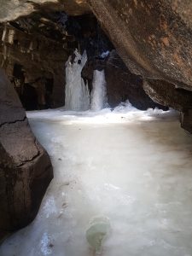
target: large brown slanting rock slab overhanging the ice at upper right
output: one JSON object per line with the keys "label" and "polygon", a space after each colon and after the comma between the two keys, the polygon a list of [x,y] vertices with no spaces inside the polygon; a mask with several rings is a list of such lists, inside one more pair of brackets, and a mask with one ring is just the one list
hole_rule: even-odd
{"label": "large brown slanting rock slab overhanging the ice at upper right", "polygon": [[192,90],[189,0],[89,0],[132,73]]}

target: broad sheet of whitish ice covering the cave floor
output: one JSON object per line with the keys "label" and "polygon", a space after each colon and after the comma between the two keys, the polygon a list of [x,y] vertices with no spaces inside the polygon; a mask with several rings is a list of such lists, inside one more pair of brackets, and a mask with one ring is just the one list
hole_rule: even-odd
{"label": "broad sheet of whitish ice covering the cave floor", "polygon": [[92,256],[91,218],[108,218],[102,256],[192,255],[192,137],[177,113],[28,113],[55,179],[1,256]]}

